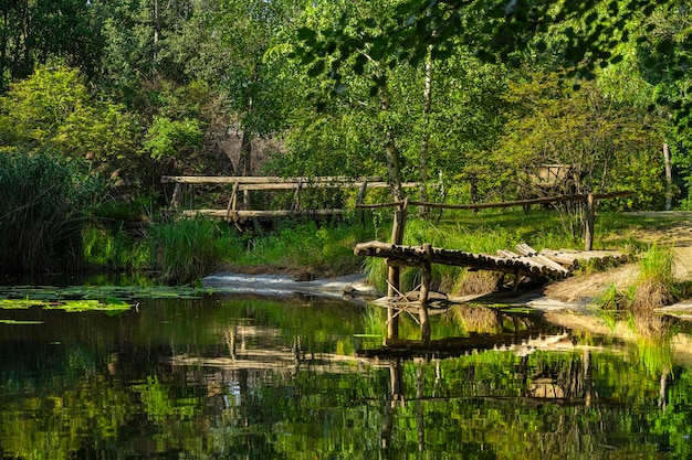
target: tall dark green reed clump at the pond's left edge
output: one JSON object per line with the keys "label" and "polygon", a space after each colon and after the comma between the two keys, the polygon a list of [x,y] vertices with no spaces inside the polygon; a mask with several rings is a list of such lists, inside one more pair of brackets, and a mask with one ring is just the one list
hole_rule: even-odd
{"label": "tall dark green reed clump at the pond's left edge", "polygon": [[104,185],[78,159],[49,151],[0,154],[0,268],[77,268],[81,229]]}

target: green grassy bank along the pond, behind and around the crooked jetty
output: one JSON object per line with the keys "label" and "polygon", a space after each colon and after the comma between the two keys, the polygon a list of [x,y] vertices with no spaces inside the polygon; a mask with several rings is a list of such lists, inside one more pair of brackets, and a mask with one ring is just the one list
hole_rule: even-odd
{"label": "green grassy bank along the pond, behind and around the crooked jetty", "polygon": [[[667,228],[681,217],[602,213],[596,227],[595,248],[646,252],[641,229]],[[94,234],[96,232],[96,234]],[[84,248],[92,267],[153,269],[169,282],[188,284],[216,270],[289,272],[298,279],[366,271],[384,289],[386,265],[381,259],[354,256],[357,243],[389,240],[390,226],[377,218],[334,222],[279,221],[273,226],[235,227],[203,218],[154,224],[145,238],[129,237],[120,228],[92,229]],[[457,213],[437,223],[409,218],[405,244],[494,254],[527,243],[535,249],[581,248],[558,213],[530,212]],[[437,287],[445,292],[486,290],[496,279],[491,274],[468,274],[464,268],[434,266]],[[405,288],[419,281],[416,269],[403,274]]]}

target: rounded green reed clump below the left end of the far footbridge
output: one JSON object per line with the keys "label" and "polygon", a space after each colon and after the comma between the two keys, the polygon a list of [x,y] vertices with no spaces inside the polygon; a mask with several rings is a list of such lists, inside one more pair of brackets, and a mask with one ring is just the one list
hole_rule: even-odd
{"label": "rounded green reed clump below the left end of the far footbridge", "polygon": [[147,238],[153,266],[165,280],[177,284],[209,275],[243,250],[240,237],[228,224],[202,217],[155,224]]}

